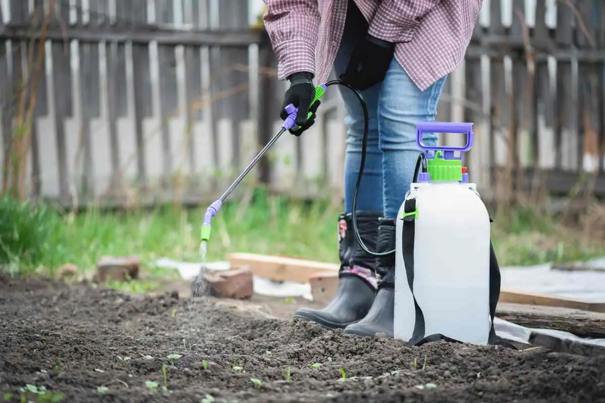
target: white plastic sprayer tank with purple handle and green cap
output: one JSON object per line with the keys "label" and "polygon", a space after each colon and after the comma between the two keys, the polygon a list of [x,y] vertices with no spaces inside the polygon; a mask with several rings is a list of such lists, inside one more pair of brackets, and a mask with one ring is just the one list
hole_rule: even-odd
{"label": "white plastic sprayer tank with purple handle and green cap", "polygon": [[[472,127],[471,123],[419,124],[417,142],[427,156],[427,172],[411,184],[406,200],[416,199],[413,292],[424,314],[422,337],[442,334],[465,343],[487,344],[491,326],[489,214],[460,161],[473,144]],[[466,146],[424,146],[424,132],[463,133]],[[405,214],[404,203],[396,220],[393,330],[395,338],[408,341],[416,326],[416,309],[404,262]]]}

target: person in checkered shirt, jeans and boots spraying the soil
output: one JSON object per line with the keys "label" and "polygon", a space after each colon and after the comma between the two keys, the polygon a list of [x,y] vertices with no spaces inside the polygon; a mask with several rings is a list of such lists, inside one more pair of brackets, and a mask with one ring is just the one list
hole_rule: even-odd
{"label": "person in checkered shirt, jeans and boots spraying the soil", "polygon": [[[322,309],[301,308],[295,320],[344,334],[393,337],[395,218],[413,181],[420,150],[416,123],[433,121],[443,83],[464,57],[482,0],[264,0],[263,22],[287,79],[283,108],[299,108],[301,135],[315,121],[314,83],[336,77],[361,91],[369,134],[353,233],[352,199],[360,168],[364,115],[341,88],[348,127],[344,211],[338,217],[339,282]],[[307,119],[307,112],[312,112]],[[282,119],[287,113],[282,109]],[[423,142],[434,145],[436,134]]]}

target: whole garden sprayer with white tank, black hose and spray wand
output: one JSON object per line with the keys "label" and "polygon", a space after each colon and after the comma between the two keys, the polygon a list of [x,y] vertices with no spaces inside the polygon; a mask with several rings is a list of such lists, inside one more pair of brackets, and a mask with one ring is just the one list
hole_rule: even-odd
{"label": "whole garden sprayer with white tank, black hose and spray wand", "polygon": [[[494,301],[499,295],[500,277],[489,239],[491,219],[461,163],[463,153],[473,144],[473,124],[417,124],[417,144],[422,152],[416,161],[413,183],[396,218],[396,247],[390,251],[371,251],[361,239],[356,214],[367,153],[368,109],[361,92],[340,80],[317,86],[310,106],[332,85],[353,91],[364,114],[361,166],[353,190],[353,233],[366,253],[377,257],[395,254],[394,337],[409,344],[444,338],[475,344],[493,340]],[[200,230],[204,256],[212,218],[223,202],[280,136],[295,125],[298,108],[290,104],[286,112],[288,116],[280,131],[206,210]],[[466,134],[466,145],[425,146],[424,132]]]}

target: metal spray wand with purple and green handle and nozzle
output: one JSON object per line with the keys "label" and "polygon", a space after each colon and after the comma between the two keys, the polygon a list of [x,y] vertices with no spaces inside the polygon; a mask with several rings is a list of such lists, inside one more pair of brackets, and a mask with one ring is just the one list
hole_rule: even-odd
{"label": "metal spray wand with purple and green handle and nozzle", "polygon": [[[321,98],[325,94],[326,89],[326,85],[319,85],[315,87],[315,97],[313,97],[310,106],[313,106],[313,104],[315,104],[315,102],[317,102],[319,98]],[[284,120],[284,123],[281,125],[280,131],[277,132],[271,140],[269,140],[269,143],[267,143],[267,145],[264,146],[262,150],[260,150],[257,156],[254,157],[252,162],[240,173],[240,175],[238,175],[237,178],[235,178],[235,181],[231,185],[229,185],[223,195],[214,202],[212,202],[212,204],[206,210],[206,214],[204,214],[204,221],[201,224],[200,228],[201,242],[208,242],[210,240],[212,218],[218,213],[218,211],[220,211],[221,207],[223,207],[223,202],[227,199],[227,197],[229,197],[229,195],[231,195],[231,192],[233,192],[233,190],[240,184],[240,182],[246,177],[246,175],[250,172],[250,170],[252,170],[252,168],[258,163],[258,161],[263,158],[263,155],[265,155],[265,153],[273,146],[273,144],[275,144],[275,142],[281,137],[281,135],[285,131],[292,129],[292,127],[295,125],[298,108],[295,108],[294,105],[290,104],[286,106],[285,109],[288,114],[288,117],[286,118],[286,120]],[[312,112],[309,112],[309,115],[307,117],[310,118],[311,115]]]}

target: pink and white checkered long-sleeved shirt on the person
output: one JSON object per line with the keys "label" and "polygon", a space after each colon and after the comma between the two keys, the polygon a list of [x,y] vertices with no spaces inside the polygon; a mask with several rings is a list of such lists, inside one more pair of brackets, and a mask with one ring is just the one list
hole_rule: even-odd
{"label": "pink and white checkered long-sleeved shirt on the person", "polygon": [[[424,91],[462,62],[483,0],[355,0],[368,33],[396,42],[395,58]],[[264,25],[278,59],[278,79],[332,71],[347,0],[264,0]],[[317,66],[316,66],[317,62]]]}

